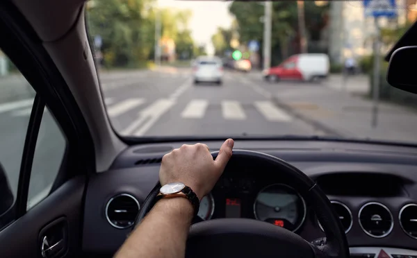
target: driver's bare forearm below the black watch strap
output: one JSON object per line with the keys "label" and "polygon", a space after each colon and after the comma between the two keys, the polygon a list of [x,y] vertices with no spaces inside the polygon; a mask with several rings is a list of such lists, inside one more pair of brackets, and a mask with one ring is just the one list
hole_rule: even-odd
{"label": "driver's bare forearm below the black watch strap", "polygon": [[192,218],[186,198],[159,200],[115,257],[184,257]]}

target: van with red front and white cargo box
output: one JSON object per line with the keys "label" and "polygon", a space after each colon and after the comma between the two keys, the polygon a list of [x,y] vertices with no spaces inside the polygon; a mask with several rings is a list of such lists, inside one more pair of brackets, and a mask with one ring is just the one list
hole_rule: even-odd
{"label": "van with red front and white cargo box", "polygon": [[315,81],[329,74],[329,56],[325,53],[303,53],[292,55],[281,65],[263,71],[263,77],[271,81],[305,80]]}

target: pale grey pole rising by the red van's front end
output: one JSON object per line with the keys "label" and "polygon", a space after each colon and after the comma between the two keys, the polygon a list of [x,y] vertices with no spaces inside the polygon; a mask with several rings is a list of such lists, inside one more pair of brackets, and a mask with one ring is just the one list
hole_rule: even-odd
{"label": "pale grey pole rising by the red van's front end", "polygon": [[263,69],[271,66],[272,2],[265,1],[263,19]]}

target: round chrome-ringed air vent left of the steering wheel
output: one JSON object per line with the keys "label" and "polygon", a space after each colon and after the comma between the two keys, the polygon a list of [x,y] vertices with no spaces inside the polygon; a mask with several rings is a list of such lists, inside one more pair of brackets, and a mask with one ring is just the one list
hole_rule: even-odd
{"label": "round chrome-ringed air vent left of the steering wheel", "polygon": [[136,198],[127,193],[120,193],[108,201],[106,218],[113,227],[127,228],[135,222],[139,209],[140,205]]}

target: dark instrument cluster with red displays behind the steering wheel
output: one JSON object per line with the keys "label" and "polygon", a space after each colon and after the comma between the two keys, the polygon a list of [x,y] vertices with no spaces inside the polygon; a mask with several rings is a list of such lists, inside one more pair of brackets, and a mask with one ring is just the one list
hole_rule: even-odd
{"label": "dark instrument cluster with red displays behind the steering wheel", "polygon": [[214,218],[253,218],[295,232],[306,218],[306,203],[287,184],[225,177],[202,199],[194,222]]}

